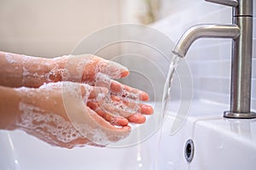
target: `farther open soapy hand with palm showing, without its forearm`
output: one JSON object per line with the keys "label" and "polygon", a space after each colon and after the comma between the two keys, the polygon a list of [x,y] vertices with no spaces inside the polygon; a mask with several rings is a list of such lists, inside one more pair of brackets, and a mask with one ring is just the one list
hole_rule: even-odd
{"label": "farther open soapy hand with palm showing, without its forearm", "polygon": [[146,121],[143,115],[153,113],[151,106],[141,104],[141,101],[148,100],[148,94],[113,80],[129,75],[123,65],[91,54],[64,56],[52,59],[52,62],[55,69],[51,72],[55,73],[55,77],[50,77],[51,82],[84,82],[108,88],[107,99],[101,103],[89,102],[88,106],[113,125],[143,123]]}

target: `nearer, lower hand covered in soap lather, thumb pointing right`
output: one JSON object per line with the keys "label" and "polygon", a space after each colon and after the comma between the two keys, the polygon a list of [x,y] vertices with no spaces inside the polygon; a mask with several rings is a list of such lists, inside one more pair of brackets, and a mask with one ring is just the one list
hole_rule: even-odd
{"label": "nearer, lower hand covered in soap lather, thumb pointing right", "polygon": [[124,139],[131,127],[114,127],[87,106],[101,102],[107,88],[76,82],[55,82],[40,88],[16,88],[20,119],[16,127],[49,144],[73,148],[83,144],[108,144]]}

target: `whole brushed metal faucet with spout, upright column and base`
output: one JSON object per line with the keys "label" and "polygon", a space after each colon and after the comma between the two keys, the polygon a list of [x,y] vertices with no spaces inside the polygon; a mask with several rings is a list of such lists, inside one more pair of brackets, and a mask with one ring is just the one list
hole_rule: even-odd
{"label": "whole brushed metal faucet with spout, upright column and base", "polygon": [[231,25],[197,25],[185,31],[172,52],[183,58],[201,37],[232,38],[230,111],[227,118],[256,118],[251,111],[253,0],[206,0],[233,7]]}

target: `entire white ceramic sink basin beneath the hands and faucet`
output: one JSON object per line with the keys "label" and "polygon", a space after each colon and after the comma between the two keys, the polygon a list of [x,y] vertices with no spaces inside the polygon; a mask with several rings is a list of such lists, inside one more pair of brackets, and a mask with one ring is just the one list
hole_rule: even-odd
{"label": "entire white ceramic sink basin beneath the hands and faucet", "polygon": [[[67,150],[21,131],[0,131],[0,169],[255,169],[255,120],[225,119],[227,105],[199,100],[193,101],[183,126],[171,134],[178,105],[172,102],[172,111],[158,131],[126,147]],[[189,139],[193,145],[186,145]],[[192,156],[190,162],[187,154]]]}

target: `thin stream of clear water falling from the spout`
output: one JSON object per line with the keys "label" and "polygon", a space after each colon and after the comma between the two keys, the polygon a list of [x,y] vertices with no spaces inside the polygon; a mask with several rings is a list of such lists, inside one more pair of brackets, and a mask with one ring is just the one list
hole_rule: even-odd
{"label": "thin stream of clear water falling from the spout", "polygon": [[174,57],[172,58],[172,60],[170,62],[169,71],[167,73],[166,82],[165,82],[165,86],[164,86],[163,99],[162,99],[162,111],[164,111],[164,115],[166,115],[166,111],[168,111],[168,104],[171,99],[170,94],[171,94],[172,78],[173,78],[175,70],[177,68],[178,61],[180,59],[181,58],[179,56],[174,55]]}

